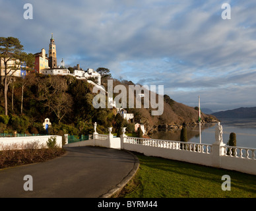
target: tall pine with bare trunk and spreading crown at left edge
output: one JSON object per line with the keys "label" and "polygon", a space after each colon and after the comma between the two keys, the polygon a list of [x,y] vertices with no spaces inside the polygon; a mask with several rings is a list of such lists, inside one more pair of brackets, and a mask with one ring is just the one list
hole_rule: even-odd
{"label": "tall pine with bare trunk and spreading crown at left edge", "polygon": [[5,115],[8,115],[7,92],[12,77],[20,69],[22,62],[31,64],[31,56],[23,52],[23,45],[18,38],[0,37],[0,59],[4,65],[4,98],[5,98]]}

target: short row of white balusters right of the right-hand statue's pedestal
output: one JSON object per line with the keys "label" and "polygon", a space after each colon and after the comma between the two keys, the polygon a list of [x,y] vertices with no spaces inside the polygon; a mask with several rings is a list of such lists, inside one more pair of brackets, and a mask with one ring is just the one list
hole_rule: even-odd
{"label": "short row of white balusters right of the right-hand statue's pedestal", "polygon": [[223,156],[256,160],[256,149],[237,146],[221,146]]}

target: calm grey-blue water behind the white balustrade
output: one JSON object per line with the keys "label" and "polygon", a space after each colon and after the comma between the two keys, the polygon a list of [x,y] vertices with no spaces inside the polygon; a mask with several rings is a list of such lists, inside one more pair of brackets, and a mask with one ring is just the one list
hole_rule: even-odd
{"label": "calm grey-blue water behind the white balustrade", "polygon": [[[223,128],[223,142],[228,142],[230,133],[236,133],[236,145],[248,148],[256,148],[256,119],[220,119]],[[215,142],[216,124],[201,126],[202,143]],[[152,138],[164,140],[179,140],[180,131],[158,132]],[[187,127],[189,142],[199,143],[199,126]]]}

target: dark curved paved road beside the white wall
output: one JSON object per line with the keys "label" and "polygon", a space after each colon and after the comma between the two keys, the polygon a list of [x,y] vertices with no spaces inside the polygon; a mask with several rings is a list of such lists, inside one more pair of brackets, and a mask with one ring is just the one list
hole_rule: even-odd
{"label": "dark curved paved road beside the white wall", "polygon": [[[0,197],[99,197],[108,193],[133,169],[135,158],[123,150],[82,146],[40,164],[0,170]],[[24,191],[25,175],[33,191]]]}

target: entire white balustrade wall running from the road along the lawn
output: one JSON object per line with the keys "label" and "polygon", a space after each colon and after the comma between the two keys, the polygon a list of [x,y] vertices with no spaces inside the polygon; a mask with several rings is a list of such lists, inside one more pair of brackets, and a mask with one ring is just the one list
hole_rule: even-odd
{"label": "entire white balustrade wall running from the road along the lawn", "polygon": [[[146,156],[180,160],[204,166],[221,167],[256,175],[256,148],[223,146],[220,143],[199,144],[176,140],[137,138],[121,135],[101,135],[94,133],[93,139],[72,143],[73,146],[103,146],[143,153]],[[83,145],[81,145],[83,144]]]}

